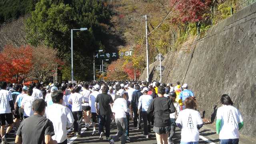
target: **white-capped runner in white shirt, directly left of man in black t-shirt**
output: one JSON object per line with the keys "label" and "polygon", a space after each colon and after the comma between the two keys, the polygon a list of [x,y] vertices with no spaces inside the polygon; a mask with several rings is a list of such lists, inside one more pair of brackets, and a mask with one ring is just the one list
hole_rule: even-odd
{"label": "white-capped runner in white shirt, directly left of man in black t-shirt", "polygon": [[89,106],[91,107],[91,113],[92,113],[92,126],[93,126],[93,132],[92,135],[96,134],[96,128],[95,128],[95,124],[97,122],[97,113],[96,113],[96,108],[95,108],[95,100],[96,97],[98,96],[98,94],[100,94],[99,90],[100,90],[100,85],[96,84],[94,86],[94,91],[90,94],[90,98],[89,98]]}

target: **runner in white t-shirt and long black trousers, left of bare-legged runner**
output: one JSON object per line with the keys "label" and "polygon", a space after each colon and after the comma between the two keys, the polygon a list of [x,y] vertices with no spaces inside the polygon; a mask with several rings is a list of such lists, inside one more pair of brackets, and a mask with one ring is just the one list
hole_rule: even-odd
{"label": "runner in white t-shirt and long black trousers, left of bare-legged runner", "polygon": [[82,102],[83,95],[80,94],[80,87],[76,86],[74,88],[74,94],[71,94],[69,98],[69,103],[72,104],[72,114],[74,117],[74,132],[76,132],[77,137],[81,137],[82,130]]}

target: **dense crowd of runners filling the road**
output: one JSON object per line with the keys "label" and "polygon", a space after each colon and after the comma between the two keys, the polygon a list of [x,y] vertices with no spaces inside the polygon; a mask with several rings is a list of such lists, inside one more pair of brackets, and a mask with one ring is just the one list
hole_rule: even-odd
{"label": "dense crowd of runners filling the road", "polygon": [[[138,130],[143,129],[145,139],[153,130],[157,144],[174,144],[176,127],[181,129],[180,144],[198,144],[203,121],[196,110],[196,96],[188,88],[188,84],[180,86],[180,82],[174,86],[155,81],[47,86],[0,82],[2,144],[7,144],[11,131],[15,131],[16,144],[67,144],[67,129],[81,137],[83,122],[99,140],[105,136],[110,144],[125,144],[130,142],[130,121]],[[221,96],[220,102],[216,116],[220,144],[238,144],[242,116],[227,94]],[[118,130],[113,136],[111,122]]]}

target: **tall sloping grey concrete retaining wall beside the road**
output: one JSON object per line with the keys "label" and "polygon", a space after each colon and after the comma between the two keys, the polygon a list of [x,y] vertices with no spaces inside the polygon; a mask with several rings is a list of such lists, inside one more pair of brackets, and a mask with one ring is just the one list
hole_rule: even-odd
{"label": "tall sloping grey concrete retaining wall beside the road", "polygon": [[[211,118],[220,107],[220,96],[229,94],[244,118],[241,133],[256,134],[256,4],[213,26],[202,38],[184,44],[179,52],[165,55],[162,82],[187,83],[198,100],[198,109]],[[150,65],[150,80],[159,80]],[[146,70],[140,76],[146,80]]]}

